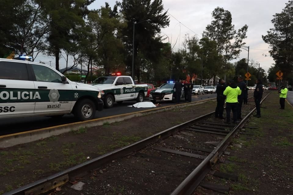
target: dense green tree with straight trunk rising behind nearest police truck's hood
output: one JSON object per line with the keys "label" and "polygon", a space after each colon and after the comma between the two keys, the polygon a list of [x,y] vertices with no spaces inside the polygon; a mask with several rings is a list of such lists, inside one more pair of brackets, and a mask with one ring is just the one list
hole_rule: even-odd
{"label": "dense green tree with straight trunk rising behind nearest police truck's hood", "polygon": [[84,18],[89,13],[87,6],[94,0],[38,1],[50,17],[47,54],[55,56],[56,70],[59,70],[60,52],[70,47],[72,30],[84,25]]}

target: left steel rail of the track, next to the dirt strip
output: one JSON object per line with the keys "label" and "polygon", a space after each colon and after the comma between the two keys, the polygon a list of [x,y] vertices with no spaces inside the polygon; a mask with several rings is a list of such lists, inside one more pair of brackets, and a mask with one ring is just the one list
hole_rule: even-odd
{"label": "left steel rail of the track, next to the dirt strip", "polygon": [[[212,116],[214,113],[215,111],[205,115],[201,115],[195,119],[184,122],[177,126],[173,126],[160,133],[156,133],[155,135],[152,135],[136,143],[133,143],[129,146],[125,146],[117,150],[111,151],[107,154],[104,154],[92,160],[86,161],[80,165],[76,165],[74,167],[68,168],[66,170],[63,170],[51,176],[45,177],[43,179],[39,179],[33,183],[29,183],[15,190],[6,192],[3,195],[31,195],[31,194],[38,195],[38,194],[47,193],[55,189],[56,187],[64,185],[65,183],[69,182],[70,179],[85,176],[93,169],[96,169],[108,162],[111,162],[112,160],[123,158],[129,154],[132,154],[133,152],[139,151],[147,147],[148,145],[157,142],[158,140],[165,139],[166,137],[180,130],[186,129],[189,126],[194,125],[195,123]],[[213,156],[214,156],[214,153],[211,153],[208,155],[206,159],[212,159]],[[200,165],[202,165],[202,163]]]}

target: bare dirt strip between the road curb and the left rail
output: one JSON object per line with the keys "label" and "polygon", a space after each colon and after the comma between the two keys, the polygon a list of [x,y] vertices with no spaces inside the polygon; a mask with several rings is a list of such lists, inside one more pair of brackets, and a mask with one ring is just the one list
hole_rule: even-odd
{"label": "bare dirt strip between the road curb and the left rail", "polygon": [[0,194],[212,112],[215,105],[208,101],[0,149]]}

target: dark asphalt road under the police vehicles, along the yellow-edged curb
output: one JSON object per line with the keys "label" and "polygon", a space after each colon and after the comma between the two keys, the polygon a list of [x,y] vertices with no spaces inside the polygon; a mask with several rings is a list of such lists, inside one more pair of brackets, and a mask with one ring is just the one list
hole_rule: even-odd
{"label": "dark asphalt road under the police vehicles, along the yellow-edged curb", "polygon": [[[216,94],[204,94],[204,95],[192,95],[192,101],[200,101],[210,98],[215,98]],[[145,101],[149,101],[146,98]],[[182,103],[185,103],[183,100]],[[142,110],[151,110],[154,108],[134,108],[128,107],[129,105],[135,104],[136,101],[124,101],[121,104],[115,103],[112,108],[104,108],[102,112],[96,112],[95,118],[102,118],[107,116],[126,114],[131,112],[138,112]],[[157,101],[156,103],[161,104],[160,107],[175,105],[172,102]],[[59,119],[53,119],[51,117],[25,117],[16,119],[0,119],[0,136],[30,131],[34,129],[41,129],[45,127],[51,127],[56,125],[62,125],[67,123],[77,122],[74,116],[64,115]]]}

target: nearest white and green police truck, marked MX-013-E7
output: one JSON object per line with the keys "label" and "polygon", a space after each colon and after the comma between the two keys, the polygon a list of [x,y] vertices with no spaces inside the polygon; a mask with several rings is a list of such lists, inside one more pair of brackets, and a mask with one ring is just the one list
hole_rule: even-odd
{"label": "nearest white and green police truck, marked MX-013-E7", "polygon": [[75,83],[45,64],[0,58],[0,119],[61,117],[93,119],[103,110],[96,87]]}

